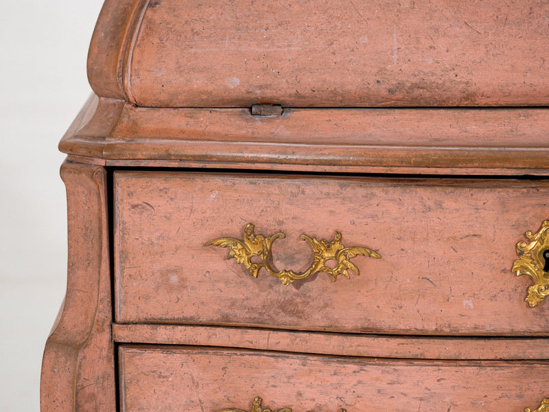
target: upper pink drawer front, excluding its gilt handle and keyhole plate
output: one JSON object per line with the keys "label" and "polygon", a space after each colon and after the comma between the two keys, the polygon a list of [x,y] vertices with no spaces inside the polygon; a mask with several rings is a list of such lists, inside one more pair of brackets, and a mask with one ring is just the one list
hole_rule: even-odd
{"label": "upper pink drawer front, excluding its gilt handle and keyhole plate", "polygon": [[[120,323],[549,332],[549,302],[529,308],[532,279],[511,272],[517,242],[549,217],[546,181],[116,172],[114,187]],[[222,242],[206,246],[244,240],[248,223],[266,238],[286,234],[271,245],[274,271],[312,266],[301,234],[332,241],[339,232],[344,247],[381,258],[351,253],[360,275],[336,282],[320,271],[283,286],[265,268],[256,279]]]}

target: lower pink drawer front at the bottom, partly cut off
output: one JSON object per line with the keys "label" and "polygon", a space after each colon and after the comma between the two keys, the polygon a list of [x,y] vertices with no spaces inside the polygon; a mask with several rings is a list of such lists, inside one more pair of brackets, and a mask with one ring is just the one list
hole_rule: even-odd
{"label": "lower pink drawer front at the bottom, partly cut off", "polygon": [[[122,345],[122,412],[520,412],[548,396],[548,361],[410,361]],[[257,402],[256,400],[256,407]]]}

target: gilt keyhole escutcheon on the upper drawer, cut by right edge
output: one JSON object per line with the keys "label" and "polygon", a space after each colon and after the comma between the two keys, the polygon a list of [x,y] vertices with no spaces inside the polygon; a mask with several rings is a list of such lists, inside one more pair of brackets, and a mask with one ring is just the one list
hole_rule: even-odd
{"label": "gilt keyhole escutcheon on the upper drawer, cut by right edge", "polygon": [[511,271],[519,275],[530,275],[534,284],[528,287],[526,301],[534,307],[549,295],[549,273],[547,272],[549,255],[549,220],[545,220],[536,233],[527,231],[529,243],[518,242],[519,259],[513,263]]}

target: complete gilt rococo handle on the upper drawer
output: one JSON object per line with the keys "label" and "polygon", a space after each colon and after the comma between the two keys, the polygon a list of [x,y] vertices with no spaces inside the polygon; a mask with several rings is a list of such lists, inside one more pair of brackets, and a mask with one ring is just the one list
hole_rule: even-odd
{"label": "complete gilt rococo handle on the upper drawer", "polygon": [[[314,259],[312,264],[307,268],[305,272],[296,273],[292,270],[277,271],[271,266],[272,261],[272,242],[277,239],[285,238],[285,234],[282,232],[275,233],[272,236],[256,235],[254,233],[254,225],[248,223],[246,229],[244,229],[244,240],[235,238],[219,238],[210,240],[206,246],[214,245],[220,247],[228,247],[231,249],[227,259],[235,258],[237,263],[243,264],[248,270],[248,273],[253,277],[257,277],[259,269],[265,268],[265,270],[272,276],[280,279],[284,286],[288,286],[294,280],[304,279],[317,272],[326,272],[331,275],[331,279],[336,282],[338,275],[343,274],[347,279],[350,278],[349,271],[353,271],[357,275],[360,275],[358,267],[349,262],[351,258],[357,255],[369,256],[371,258],[379,259],[381,255],[372,249],[366,247],[344,247],[341,240],[341,233],[336,232],[334,240],[328,242],[325,239],[316,240],[316,238],[310,238],[307,235],[301,235],[300,239],[305,240],[312,247],[314,251]],[[254,257],[259,258],[261,262],[252,262]],[[335,260],[336,266],[331,268],[326,265],[329,260]]]}

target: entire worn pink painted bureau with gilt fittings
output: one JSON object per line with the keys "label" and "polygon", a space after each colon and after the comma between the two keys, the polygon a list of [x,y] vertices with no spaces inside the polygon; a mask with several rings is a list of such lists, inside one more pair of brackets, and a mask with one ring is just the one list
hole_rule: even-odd
{"label": "entire worn pink painted bureau with gilt fittings", "polygon": [[536,0],[107,0],[41,410],[549,411],[548,40]]}

